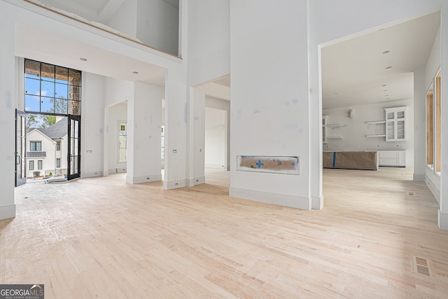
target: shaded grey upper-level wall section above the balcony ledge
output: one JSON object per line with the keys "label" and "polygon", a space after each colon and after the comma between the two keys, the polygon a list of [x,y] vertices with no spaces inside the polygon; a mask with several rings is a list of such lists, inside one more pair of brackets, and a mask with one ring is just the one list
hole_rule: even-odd
{"label": "shaded grey upper-level wall section above the balcony ledge", "polygon": [[163,0],[137,0],[137,39],[178,55],[179,8]]}

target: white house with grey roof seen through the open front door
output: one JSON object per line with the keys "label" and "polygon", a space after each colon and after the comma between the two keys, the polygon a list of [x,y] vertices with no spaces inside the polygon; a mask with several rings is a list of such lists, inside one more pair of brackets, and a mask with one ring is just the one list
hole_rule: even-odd
{"label": "white house with grey roof seen through the open front door", "polygon": [[67,172],[67,119],[27,132],[27,177],[61,176]]}

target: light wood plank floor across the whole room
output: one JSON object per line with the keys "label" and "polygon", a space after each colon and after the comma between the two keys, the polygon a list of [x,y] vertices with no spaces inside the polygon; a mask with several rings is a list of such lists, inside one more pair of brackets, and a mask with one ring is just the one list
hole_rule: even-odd
{"label": "light wood plank floor across the whole room", "polygon": [[47,299],[448,298],[448,232],[411,178],[324,169],[321,211],[228,197],[221,170],[177,190],[124,174],[30,183],[0,221],[0,284],[45,284]]}

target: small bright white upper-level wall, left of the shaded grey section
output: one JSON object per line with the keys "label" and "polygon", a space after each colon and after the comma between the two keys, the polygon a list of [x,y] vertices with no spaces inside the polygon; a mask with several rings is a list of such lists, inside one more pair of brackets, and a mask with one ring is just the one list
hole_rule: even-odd
{"label": "small bright white upper-level wall, left of the shaded grey section", "polygon": [[137,37],[137,0],[123,2],[106,25],[129,36]]}

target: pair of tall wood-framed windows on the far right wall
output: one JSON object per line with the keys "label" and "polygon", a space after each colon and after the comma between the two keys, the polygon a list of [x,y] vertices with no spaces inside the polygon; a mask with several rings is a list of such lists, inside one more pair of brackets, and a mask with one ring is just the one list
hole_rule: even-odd
{"label": "pair of tall wood-framed windows on the far right wall", "polygon": [[426,94],[426,165],[440,174],[441,159],[441,118],[440,109],[441,73],[434,78],[434,83]]}

